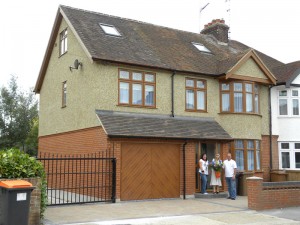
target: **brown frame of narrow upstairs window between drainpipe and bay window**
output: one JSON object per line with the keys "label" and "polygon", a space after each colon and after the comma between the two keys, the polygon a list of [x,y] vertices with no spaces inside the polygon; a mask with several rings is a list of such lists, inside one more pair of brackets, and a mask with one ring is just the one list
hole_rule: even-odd
{"label": "brown frame of narrow upstairs window between drainpipe and bay window", "polygon": [[[194,87],[188,87],[186,85],[187,80],[193,80],[194,81]],[[197,87],[197,81],[201,81],[204,84],[204,88],[198,88]],[[207,112],[207,81],[204,79],[197,79],[197,78],[190,78],[190,77],[186,77],[185,78],[185,111],[187,112]],[[186,107],[187,104],[187,90],[193,90],[194,91],[194,109],[188,109]],[[204,92],[204,109],[197,109],[198,108],[198,91],[202,91]]]}

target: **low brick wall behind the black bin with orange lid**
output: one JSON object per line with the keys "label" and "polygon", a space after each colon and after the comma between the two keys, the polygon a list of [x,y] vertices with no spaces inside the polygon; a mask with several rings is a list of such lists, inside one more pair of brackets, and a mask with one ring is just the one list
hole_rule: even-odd
{"label": "low brick wall behind the black bin with orange lid", "polygon": [[[16,180],[16,179],[0,179],[3,180]],[[17,179],[19,180],[19,179]],[[28,217],[28,225],[38,225],[40,224],[40,211],[41,211],[41,189],[40,189],[40,178],[20,178],[20,180],[26,180],[35,187],[31,192],[30,198],[30,209]]]}

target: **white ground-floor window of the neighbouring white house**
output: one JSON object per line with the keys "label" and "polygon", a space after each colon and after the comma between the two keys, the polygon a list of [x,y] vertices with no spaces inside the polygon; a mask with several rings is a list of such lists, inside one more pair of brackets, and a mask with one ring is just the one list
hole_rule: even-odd
{"label": "white ground-floor window of the neighbouring white house", "polygon": [[300,142],[279,142],[279,167],[300,170]]}

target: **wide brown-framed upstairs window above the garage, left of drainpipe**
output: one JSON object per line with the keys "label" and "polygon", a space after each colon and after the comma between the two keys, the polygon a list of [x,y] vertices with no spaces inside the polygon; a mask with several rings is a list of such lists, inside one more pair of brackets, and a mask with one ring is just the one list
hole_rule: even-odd
{"label": "wide brown-framed upstairs window above the garage, left of drainpipe", "polygon": [[119,70],[119,105],[155,107],[155,74]]}

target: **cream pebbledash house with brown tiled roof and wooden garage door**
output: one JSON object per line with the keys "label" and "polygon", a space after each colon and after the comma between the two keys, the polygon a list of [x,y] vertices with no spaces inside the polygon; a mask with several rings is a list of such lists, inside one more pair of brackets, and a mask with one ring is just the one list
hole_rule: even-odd
{"label": "cream pebbledash house with brown tiled roof and wooden garage door", "polygon": [[[231,152],[270,179],[269,92],[284,65],[228,39],[60,6],[36,82],[39,152],[117,158],[117,199],[192,197],[197,162]],[[276,139],[277,140],[277,139]]]}

